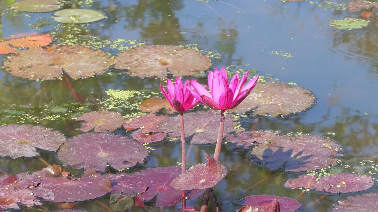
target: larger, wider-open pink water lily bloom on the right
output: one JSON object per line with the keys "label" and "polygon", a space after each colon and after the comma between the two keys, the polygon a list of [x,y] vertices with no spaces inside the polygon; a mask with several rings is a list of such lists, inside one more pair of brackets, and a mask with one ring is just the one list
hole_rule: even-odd
{"label": "larger, wider-open pink water lily bloom on the right", "polygon": [[220,71],[215,68],[214,72],[210,71],[208,75],[210,93],[206,90],[206,87],[193,80],[191,80],[191,84],[195,91],[192,88],[190,91],[195,98],[213,110],[232,109],[238,106],[256,85],[259,77],[254,77],[243,87],[247,80],[248,72],[245,73],[240,83],[239,73],[236,73],[228,84],[225,67]]}

